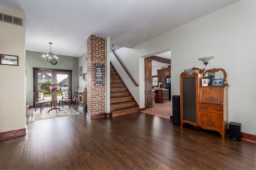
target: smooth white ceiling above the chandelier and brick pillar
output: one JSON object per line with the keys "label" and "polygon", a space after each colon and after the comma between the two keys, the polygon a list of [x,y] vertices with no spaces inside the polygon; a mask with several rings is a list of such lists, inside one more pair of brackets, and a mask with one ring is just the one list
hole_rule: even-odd
{"label": "smooth white ceiling above the chandelier and brick pillar", "polygon": [[80,57],[90,35],[132,47],[239,0],[0,0],[24,11],[26,50]]}

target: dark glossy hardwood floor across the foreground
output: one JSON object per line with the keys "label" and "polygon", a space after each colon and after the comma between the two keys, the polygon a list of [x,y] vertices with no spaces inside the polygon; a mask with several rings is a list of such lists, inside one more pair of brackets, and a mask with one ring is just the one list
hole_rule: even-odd
{"label": "dark glossy hardwood floor across the foreground", "polygon": [[256,168],[256,143],[146,113],[90,120],[80,111],[27,125],[27,135],[0,141],[0,169]]}

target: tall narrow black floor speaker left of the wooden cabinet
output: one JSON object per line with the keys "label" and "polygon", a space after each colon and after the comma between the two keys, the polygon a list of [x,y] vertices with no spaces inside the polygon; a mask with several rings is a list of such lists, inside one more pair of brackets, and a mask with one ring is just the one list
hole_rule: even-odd
{"label": "tall narrow black floor speaker left of the wooden cabinet", "polygon": [[180,125],[180,95],[172,96],[172,123]]}

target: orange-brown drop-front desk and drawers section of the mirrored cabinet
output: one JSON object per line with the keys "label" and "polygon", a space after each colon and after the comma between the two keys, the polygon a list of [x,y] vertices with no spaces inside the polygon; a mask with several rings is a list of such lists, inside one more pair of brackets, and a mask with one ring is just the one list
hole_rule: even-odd
{"label": "orange-brown drop-front desk and drawers section of the mirrored cabinet", "polygon": [[201,86],[199,102],[199,126],[217,131],[221,139],[225,139],[228,128],[228,87]]}

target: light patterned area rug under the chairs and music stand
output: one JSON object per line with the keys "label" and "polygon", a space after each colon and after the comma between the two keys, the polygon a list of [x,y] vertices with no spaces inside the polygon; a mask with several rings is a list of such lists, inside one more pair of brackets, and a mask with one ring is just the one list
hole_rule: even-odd
{"label": "light patterned area rug under the chairs and music stand", "polygon": [[40,109],[36,109],[33,113],[32,121],[38,121],[38,120],[44,120],[44,119],[52,119],[56,117],[64,117],[64,116],[71,116],[71,115],[78,115],[79,113],[74,111],[73,109],[70,109],[69,107],[66,108],[60,108],[56,110],[51,110],[49,113],[47,113],[50,110],[50,108],[44,108],[42,110],[42,113],[40,113]]}

